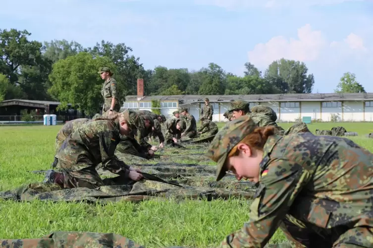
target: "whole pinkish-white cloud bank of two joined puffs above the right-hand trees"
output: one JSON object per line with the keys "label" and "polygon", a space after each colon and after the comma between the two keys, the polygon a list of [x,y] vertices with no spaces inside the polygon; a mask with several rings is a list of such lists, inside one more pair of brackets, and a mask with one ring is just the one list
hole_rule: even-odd
{"label": "whole pinkish-white cloud bank of two joined puffs above the right-hand trees", "polygon": [[298,29],[298,39],[283,36],[271,38],[266,43],[256,44],[248,52],[249,61],[259,68],[265,68],[281,58],[311,62],[321,59],[324,63],[338,64],[346,59],[371,61],[372,51],[364,39],[354,33],[342,41],[326,41],[321,31],[314,31],[310,24]]}

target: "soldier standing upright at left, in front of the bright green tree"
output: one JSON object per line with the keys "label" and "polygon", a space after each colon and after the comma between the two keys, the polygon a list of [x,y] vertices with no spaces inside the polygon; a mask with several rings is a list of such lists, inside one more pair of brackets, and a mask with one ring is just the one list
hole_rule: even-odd
{"label": "soldier standing upright at left, in front of the bright green tree", "polygon": [[109,68],[102,67],[99,69],[99,74],[101,74],[101,78],[105,80],[101,90],[101,95],[104,97],[103,116],[106,116],[108,114],[107,112],[119,112],[120,99],[118,84],[115,79],[111,78],[113,73]]}

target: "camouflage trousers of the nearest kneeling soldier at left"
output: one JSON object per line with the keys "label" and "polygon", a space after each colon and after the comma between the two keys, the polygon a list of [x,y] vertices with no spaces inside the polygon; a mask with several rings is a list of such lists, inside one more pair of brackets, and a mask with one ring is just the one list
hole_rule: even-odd
{"label": "camouflage trousers of the nearest kneeling soldier at left", "polygon": [[119,175],[113,178],[101,179],[96,165],[71,165],[71,162],[58,159],[56,166],[63,172],[62,185],[64,189],[89,188],[95,189],[104,185],[125,185],[134,183],[128,177]]}

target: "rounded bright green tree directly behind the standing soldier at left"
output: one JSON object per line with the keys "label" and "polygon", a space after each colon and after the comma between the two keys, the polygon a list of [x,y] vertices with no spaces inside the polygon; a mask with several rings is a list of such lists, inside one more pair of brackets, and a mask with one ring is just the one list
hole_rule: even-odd
{"label": "rounded bright green tree directly behind the standing soldier at left", "polygon": [[98,113],[104,103],[101,95],[104,81],[97,72],[104,66],[116,69],[110,58],[94,58],[87,52],[80,52],[54,63],[49,77],[52,83],[49,91],[61,102],[58,108],[67,109],[70,103],[86,114]]}

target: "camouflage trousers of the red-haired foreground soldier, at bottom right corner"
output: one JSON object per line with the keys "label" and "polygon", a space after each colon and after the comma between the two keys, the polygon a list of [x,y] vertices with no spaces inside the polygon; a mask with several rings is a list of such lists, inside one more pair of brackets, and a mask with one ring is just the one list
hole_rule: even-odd
{"label": "camouflage trousers of the red-haired foreground soldier, at bottom right corner", "polygon": [[[278,247],[292,248],[372,248],[373,227],[335,227],[332,229],[300,227],[302,224],[292,216],[287,216],[281,223],[280,229],[285,234],[289,243]],[[284,246],[285,245],[285,246]],[[274,246],[271,246],[274,247]]]}

